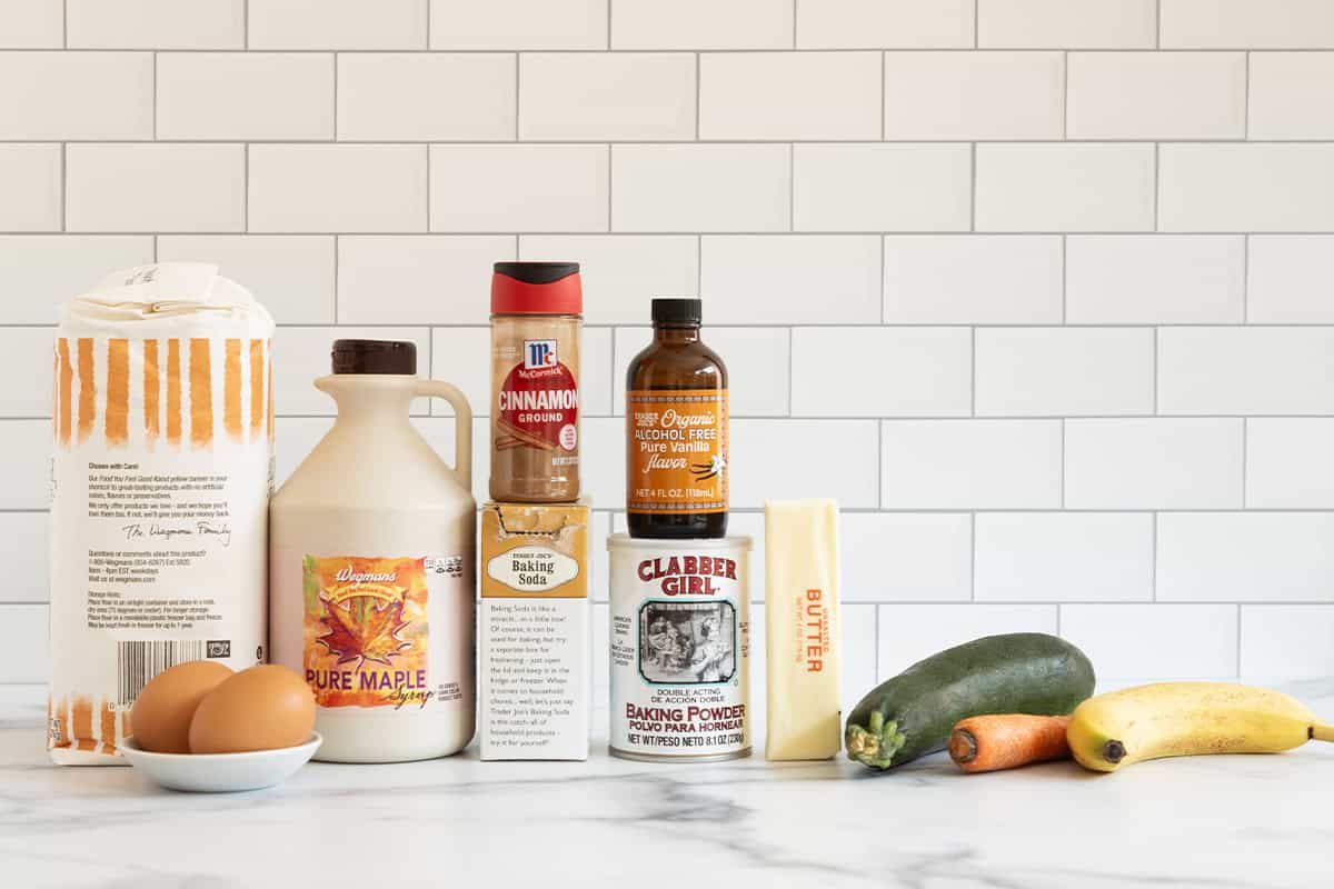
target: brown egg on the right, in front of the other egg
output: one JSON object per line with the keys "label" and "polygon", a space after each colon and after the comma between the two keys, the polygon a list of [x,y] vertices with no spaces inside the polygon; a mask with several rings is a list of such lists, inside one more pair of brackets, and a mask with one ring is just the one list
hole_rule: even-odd
{"label": "brown egg on the right, in front of the other egg", "polygon": [[244,753],[305,744],[315,728],[315,696],[276,664],[236,673],[199,704],[189,724],[191,753]]}

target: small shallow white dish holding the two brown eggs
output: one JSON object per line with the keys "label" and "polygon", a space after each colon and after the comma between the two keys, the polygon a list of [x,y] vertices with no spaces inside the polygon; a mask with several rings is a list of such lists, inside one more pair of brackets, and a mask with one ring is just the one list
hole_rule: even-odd
{"label": "small shallow white dish holding the two brown eggs", "polygon": [[311,732],[299,746],[252,753],[149,753],[128,737],[120,749],[125,760],[144,774],[172,790],[231,793],[259,790],[281,784],[305,765],[324,738]]}

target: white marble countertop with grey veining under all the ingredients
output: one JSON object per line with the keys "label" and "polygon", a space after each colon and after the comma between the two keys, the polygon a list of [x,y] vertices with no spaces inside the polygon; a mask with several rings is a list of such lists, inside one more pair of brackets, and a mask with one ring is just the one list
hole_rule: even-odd
{"label": "white marble countertop with grey veining under all the ingredients", "polygon": [[[1281,686],[1334,714],[1334,680]],[[0,885],[1329,886],[1334,745],[1095,776],[846,760],[313,762],[240,794],[55,768],[44,692],[0,686]],[[760,749],[759,746],[756,748]]]}

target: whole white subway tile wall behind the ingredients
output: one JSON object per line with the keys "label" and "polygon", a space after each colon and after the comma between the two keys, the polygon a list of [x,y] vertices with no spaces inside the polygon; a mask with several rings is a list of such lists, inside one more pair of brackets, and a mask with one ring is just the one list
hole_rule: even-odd
{"label": "whole white subway tile wall behind the ingredients", "polygon": [[1329,0],[0,0],[0,681],[45,674],[56,305],[155,257],[277,316],[284,472],[332,337],[483,407],[490,263],[582,260],[600,529],[698,292],[736,526],[844,506],[851,686],[1021,628],[1334,672]]}

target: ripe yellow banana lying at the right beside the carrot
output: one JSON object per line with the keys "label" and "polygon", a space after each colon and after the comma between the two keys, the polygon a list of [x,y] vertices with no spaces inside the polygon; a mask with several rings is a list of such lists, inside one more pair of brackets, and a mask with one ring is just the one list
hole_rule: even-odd
{"label": "ripe yellow banana lying at the right beside the carrot", "polygon": [[1229,682],[1159,682],[1091,697],[1066,730],[1079,765],[1115,772],[1143,760],[1202,753],[1279,753],[1309,740],[1334,741],[1281,692]]}

